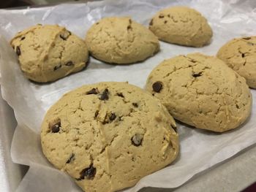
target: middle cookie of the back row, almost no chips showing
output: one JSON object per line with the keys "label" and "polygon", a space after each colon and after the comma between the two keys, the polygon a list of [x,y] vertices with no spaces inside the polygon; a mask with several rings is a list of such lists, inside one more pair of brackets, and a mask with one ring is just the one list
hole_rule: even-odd
{"label": "middle cookie of the back row, almost no chips showing", "polygon": [[159,51],[159,41],[148,28],[130,18],[103,18],[86,34],[94,58],[112,64],[143,61]]}

